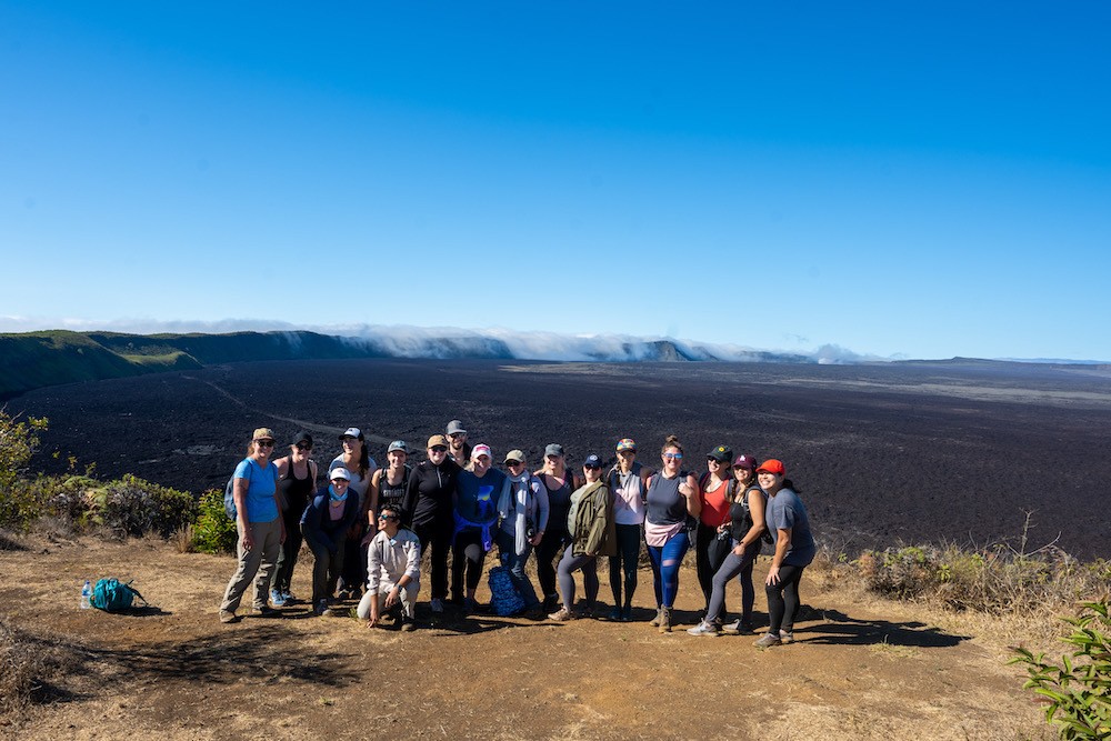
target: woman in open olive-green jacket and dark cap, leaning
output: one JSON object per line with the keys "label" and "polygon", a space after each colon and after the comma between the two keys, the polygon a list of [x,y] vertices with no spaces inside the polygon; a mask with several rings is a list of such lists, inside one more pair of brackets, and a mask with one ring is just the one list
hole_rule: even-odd
{"label": "woman in open olive-green jacket and dark cap, leaning", "polygon": [[613,494],[602,480],[602,461],[588,455],[582,464],[587,479],[571,494],[568,531],[571,544],[559,562],[559,588],[563,607],[548,615],[551,620],[574,620],[574,572],[582,570],[582,587],[587,592],[585,614],[592,614],[598,599],[598,557],[617,555],[617,534],[613,523]]}

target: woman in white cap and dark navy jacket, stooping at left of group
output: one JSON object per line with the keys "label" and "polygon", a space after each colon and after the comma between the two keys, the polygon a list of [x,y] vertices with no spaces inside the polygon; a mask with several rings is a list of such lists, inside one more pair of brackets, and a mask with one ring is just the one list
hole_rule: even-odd
{"label": "woman in white cap and dark navy jacket, stooping at left of group", "polygon": [[301,515],[301,533],[312,549],[312,605],[328,612],[336,582],[343,571],[348,531],[359,517],[359,498],[349,485],[351,474],[343,467],[329,471],[331,483],[317,492]]}

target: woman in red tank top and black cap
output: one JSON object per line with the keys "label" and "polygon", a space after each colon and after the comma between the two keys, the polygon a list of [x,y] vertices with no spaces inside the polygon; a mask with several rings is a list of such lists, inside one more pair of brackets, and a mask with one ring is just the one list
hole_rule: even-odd
{"label": "woman in red tank top and black cap", "polygon": [[[710,610],[710,594],[713,593],[713,574],[725,562],[732,550],[729,530],[729,495],[733,477],[729,463],[733,451],[718,445],[705,454],[705,473],[699,479],[699,501],[702,504],[694,535],[694,567],[698,583],[702,588],[703,610]],[[703,617],[705,615],[703,612]]]}

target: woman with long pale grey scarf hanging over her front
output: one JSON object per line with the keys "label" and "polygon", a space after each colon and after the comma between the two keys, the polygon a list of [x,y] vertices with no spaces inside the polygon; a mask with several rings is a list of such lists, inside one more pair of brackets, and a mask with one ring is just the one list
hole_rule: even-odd
{"label": "woman with long pale grey scarf hanging over her front", "polygon": [[496,535],[498,553],[509,570],[513,589],[524,602],[524,611],[539,617],[540,600],[524,567],[532,549],[540,543],[548,529],[548,490],[529,471],[522,451],[507,453],[506,469],[509,474],[498,498],[498,515],[501,519]]}

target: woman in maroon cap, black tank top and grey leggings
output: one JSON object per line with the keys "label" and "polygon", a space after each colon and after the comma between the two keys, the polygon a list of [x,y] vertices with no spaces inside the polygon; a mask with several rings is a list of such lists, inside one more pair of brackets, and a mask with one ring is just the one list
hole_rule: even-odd
{"label": "woman in maroon cap, black tank top and grey leggings", "polygon": [[[705,618],[687,631],[691,635],[752,632],[752,604],[755,602],[752,564],[760,554],[760,544],[768,529],[764,523],[767,501],[768,494],[755,482],[755,459],[751,455],[738,455],[733,461],[733,481],[729,487],[729,522],[719,529],[719,532],[729,537],[732,548],[713,574],[713,590]],[[732,625],[722,628],[725,585],[733,577],[739,577],[741,582],[741,617]]]}

